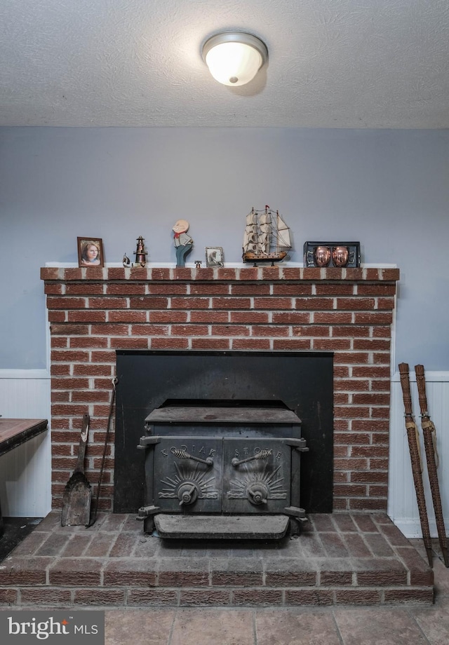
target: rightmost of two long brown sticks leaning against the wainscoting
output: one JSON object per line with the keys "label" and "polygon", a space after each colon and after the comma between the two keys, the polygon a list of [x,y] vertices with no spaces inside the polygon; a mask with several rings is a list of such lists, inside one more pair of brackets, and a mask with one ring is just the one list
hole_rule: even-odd
{"label": "rightmost of two long brown sticks leaning against the wainscoting", "polygon": [[424,376],[424,365],[415,365],[416,383],[418,387],[418,396],[421,409],[421,428],[424,435],[424,448],[426,451],[427,473],[429,474],[429,484],[434,503],[436,529],[440,541],[441,552],[445,566],[449,567],[448,561],[448,541],[443,520],[443,508],[441,507],[441,494],[438,484],[438,452],[436,451],[436,428],[431,421],[427,410],[426,395],[426,377]]}

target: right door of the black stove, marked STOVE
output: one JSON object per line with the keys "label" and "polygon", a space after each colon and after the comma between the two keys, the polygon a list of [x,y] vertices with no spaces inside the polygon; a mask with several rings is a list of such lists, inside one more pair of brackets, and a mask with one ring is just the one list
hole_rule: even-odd
{"label": "right door of the black stove, marked STOVE", "polygon": [[280,439],[224,439],[223,512],[283,512],[290,505],[291,450]]}

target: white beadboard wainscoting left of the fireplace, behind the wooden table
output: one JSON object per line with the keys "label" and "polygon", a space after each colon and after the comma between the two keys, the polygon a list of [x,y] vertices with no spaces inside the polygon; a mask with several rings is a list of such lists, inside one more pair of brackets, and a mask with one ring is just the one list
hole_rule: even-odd
{"label": "white beadboard wainscoting left of the fireplace, behind the wooden table", "polygon": [[0,457],[4,517],[45,517],[51,510],[51,393],[46,369],[0,369],[0,414],[48,419],[48,430]]}

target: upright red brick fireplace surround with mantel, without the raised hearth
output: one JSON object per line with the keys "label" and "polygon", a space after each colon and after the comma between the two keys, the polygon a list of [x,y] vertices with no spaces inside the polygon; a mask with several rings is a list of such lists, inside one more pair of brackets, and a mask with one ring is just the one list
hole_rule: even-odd
{"label": "upright red brick fireplace surround with mantel, without the raised hearth", "polygon": [[[41,269],[51,323],[53,506],[81,418],[94,484],[116,349],[333,351],[335,510],[386,510],[391,322],[398,269]],[[101,508],[112,509],[114,434]],[[95,495],[95,488],[93,491]]]}

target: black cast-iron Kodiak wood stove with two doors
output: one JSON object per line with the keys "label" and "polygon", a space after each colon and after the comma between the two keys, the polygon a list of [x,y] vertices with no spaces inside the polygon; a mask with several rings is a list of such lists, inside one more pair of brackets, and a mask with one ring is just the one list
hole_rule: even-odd
{"label": "black cast-iron Kodiak wood stove with two doors", "polygon": [[298,534],[301,421],[286,407],[166,405],[145,419],[145,532],[163,538]]}

